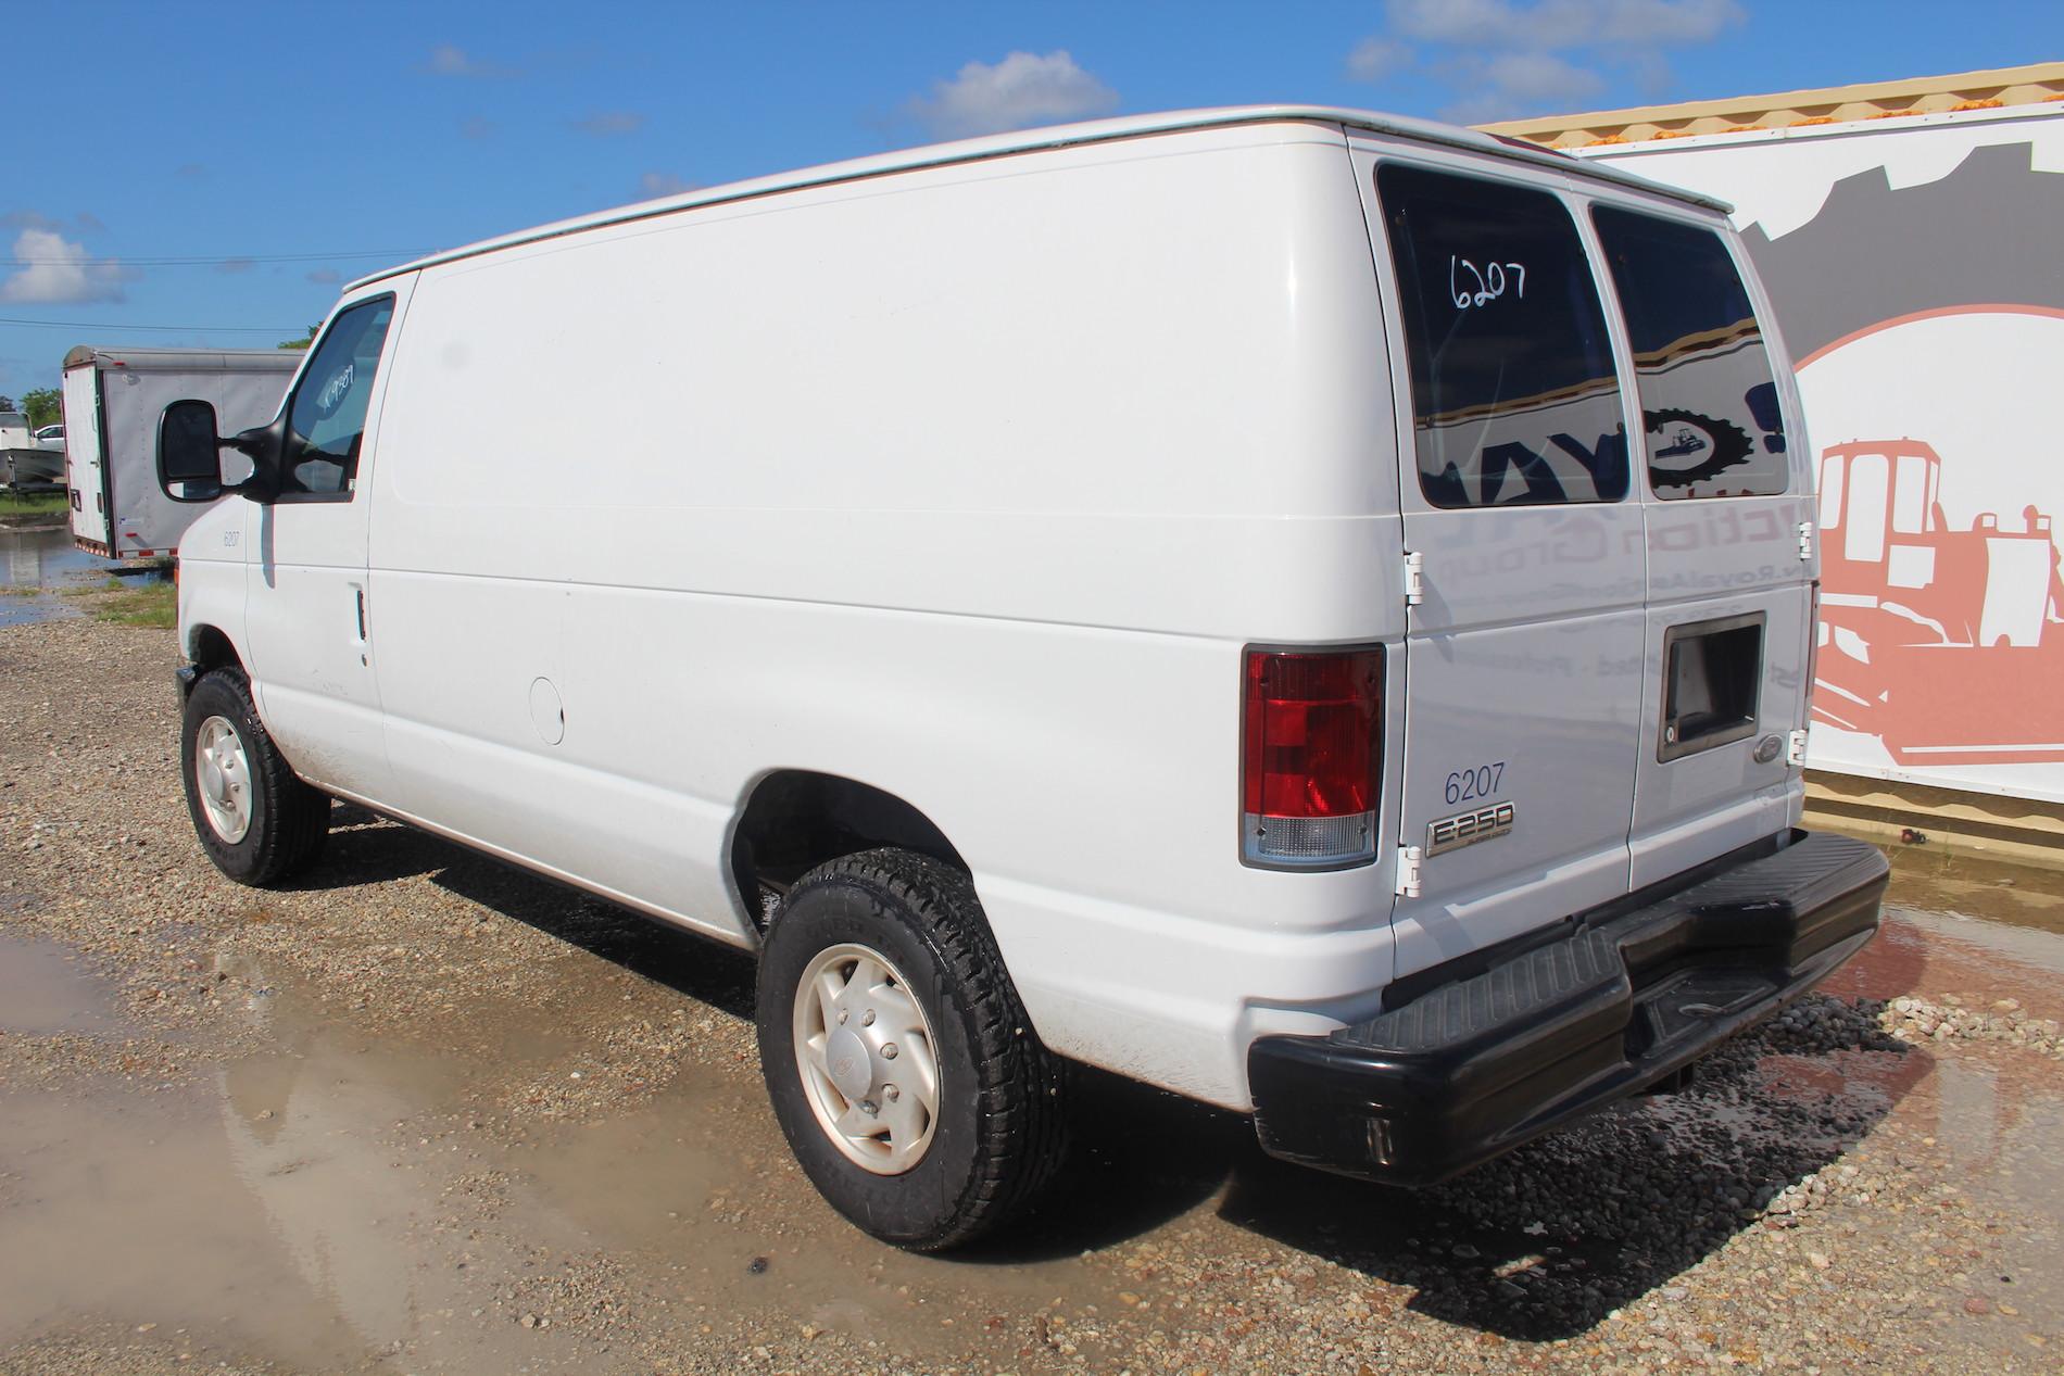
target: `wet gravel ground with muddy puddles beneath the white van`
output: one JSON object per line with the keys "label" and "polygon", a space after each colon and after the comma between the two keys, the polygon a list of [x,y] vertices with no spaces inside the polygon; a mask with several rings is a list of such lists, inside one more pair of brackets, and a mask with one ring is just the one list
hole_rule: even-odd
{"label": "wet gravel ground with muddy puddles beneath the white van", "polygon": [[173,662],[0,627],[0,1372],[2064,1370],[2056,974],[1917,918],[1418,1194],[1084,1075],[1040,1215],[918,1258],[788,1161],[745,957],[351,809],[223,881]]}

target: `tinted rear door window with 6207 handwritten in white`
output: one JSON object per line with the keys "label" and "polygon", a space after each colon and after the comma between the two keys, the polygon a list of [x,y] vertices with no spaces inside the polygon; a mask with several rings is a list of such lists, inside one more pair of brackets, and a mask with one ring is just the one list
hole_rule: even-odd
{"label": "tinted rear door window with 6207 handwritten in white", "polygon": [[1377,169],[1420,491],[1443,507],[1618,501],[1626,425],[1577,225],[1548,192]]}

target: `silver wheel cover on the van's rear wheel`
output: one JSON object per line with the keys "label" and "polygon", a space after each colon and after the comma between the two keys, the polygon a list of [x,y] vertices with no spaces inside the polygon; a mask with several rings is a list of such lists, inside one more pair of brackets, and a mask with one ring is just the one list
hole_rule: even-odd
{"label": "silver wheel cover on the van's rear wheel", "polygon": [[939,1122],[931,1019],[885,955],[819,951],[795,986],[795,1067],[817,1126],[848,1161],[900,1176]]}

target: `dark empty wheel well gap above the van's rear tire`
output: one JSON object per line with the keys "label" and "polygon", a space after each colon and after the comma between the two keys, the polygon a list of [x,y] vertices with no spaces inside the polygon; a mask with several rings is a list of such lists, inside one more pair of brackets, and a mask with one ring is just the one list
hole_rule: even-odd
{"label": "dark empty wheel well gap above the van's rear tire", "polygon": [[768,893],[784,893],[826,860],[877,846],[914,850],[968,871],[931,817],[896,794],[807,769],[780,769],[760,780],[731,836],[731,871],[739,897],[764,924]]}

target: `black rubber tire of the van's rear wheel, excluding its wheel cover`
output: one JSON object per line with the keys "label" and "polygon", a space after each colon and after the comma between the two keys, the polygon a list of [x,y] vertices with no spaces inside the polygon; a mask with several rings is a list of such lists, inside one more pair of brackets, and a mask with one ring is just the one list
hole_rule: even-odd
{"label": "black rubber tire of the van's rear wheel, excluding its wheel cover", "polygon": [[[939,1108],[902,1174],[846,1157],[797,1062],[797,986],[840,945],[888,957],[931,1023]],[[760,957],[757,1021],[788,1147],[826,1201],[883,1242],[918,1252],[972,1242],[1030,1205],[1067,1151],[1065,1062],[1032,1031],[974,885],[949,864],[869,850],[803,875]]]}

